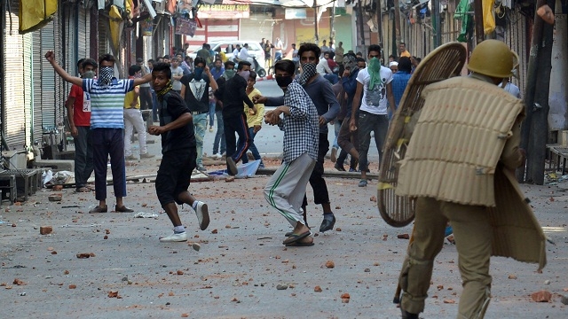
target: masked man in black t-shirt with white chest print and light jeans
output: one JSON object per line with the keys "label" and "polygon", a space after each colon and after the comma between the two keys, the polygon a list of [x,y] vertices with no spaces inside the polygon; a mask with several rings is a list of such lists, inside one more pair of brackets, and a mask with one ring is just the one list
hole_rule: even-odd
{"label": "masked man in black t-shirt with white chest print and light jeans", "polygon": [[209,71],[205,59],[196,57],[193,61],[193,73],[184,75],[180,82],[181,97],[193,116],[193,129],[195,130],[195,143],[197,149],[197,169],[205,171],[203,167],[203,138],[207,129],[207,113],[209,113],[209,86],[217,89],[217,82]]}

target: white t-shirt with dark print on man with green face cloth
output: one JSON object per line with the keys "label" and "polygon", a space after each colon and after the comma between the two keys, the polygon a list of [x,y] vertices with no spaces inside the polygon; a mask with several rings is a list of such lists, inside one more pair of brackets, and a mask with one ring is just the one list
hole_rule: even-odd
{"label": "white t-shirt with dark print on man with green face cloth", "polygon": [[388,108],[387,84],[392,81],[392,71],[390,68],[381,66],[381,82],[375,83],[375,88],[369,90],[371,75],[368,67],[359,71],[357,74],[357,82],[363,84],[363,100],[361,101],[361,111],[368,113],[386,115]]}

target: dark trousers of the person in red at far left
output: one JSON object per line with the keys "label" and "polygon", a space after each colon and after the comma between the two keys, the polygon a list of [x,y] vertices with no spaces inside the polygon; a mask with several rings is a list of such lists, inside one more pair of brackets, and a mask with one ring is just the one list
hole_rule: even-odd
{"label": "dark trousers of the person in red at far left", "polygon": [[92,135],[91,127],[77,127],[79,133],[74,140],[75,144],[75,186],[81,188],[87,184],[91,177],[92,164]]}

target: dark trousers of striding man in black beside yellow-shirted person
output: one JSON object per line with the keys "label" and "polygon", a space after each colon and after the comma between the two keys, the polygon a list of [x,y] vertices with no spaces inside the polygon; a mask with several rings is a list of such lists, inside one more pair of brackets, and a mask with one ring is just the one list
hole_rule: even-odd
{"label": "dark trousers of striding man in black beside yellow-shirted person", "polygon": [[[231,156],[234,162],[241,160],[250,147],[250,135],[248,134],[247,117],[244,113],[236,117],[223,118],[225,126],[225,142],[227,144],[227,157]],[[239,144],[234,134],[239,136]],[[227,167],[228,168],[228,167]]]}

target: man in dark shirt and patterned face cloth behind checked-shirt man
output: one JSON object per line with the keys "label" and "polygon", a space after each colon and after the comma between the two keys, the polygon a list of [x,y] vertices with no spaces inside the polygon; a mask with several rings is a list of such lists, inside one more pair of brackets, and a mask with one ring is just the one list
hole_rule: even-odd
{"label": "man in dark shirt and patterned face cloth behind checked-shirt man", "polygon": [[[316,72],[321,51],[314,43],[304,43],[298,50],[300,56],[300,66],[302,73],[298,82],[305,89],[308,96],[312,99],[319,115],[319,148],[316,166],[310,176],[310,184],[313,189],[314,203],[321,204],[323,208],[323,222],[319,226],[319,231],[324,232],[333,230],[335,225],[335,215],[329,203],[329,192],[327,191],[326,181],[323,179],[323,161],[329,151],[329,141],[327,140],[327,123],[333,121],[339,113],[339,103],[335,98],[331,83]],[[255,103],[264,103],[266,106],[284,105],[284,97],[256,97]],[[307,198],[304,198],[304,222],[306,220]],[[289,233],[288,233],[289,234]],[[287,235],[288,235],[287,234]]]}

